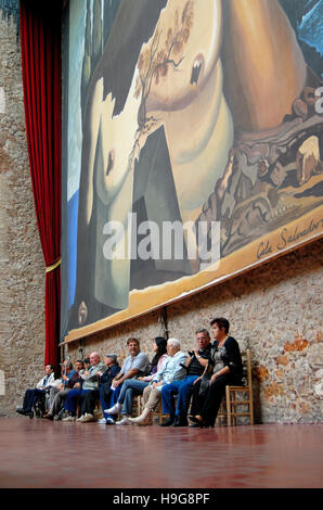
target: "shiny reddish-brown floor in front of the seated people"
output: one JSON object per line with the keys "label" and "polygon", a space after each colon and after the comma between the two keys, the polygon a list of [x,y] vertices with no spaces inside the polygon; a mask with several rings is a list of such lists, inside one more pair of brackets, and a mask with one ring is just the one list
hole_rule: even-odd
{"label": "shiny reddish-brown floor in front of the seated people", "polygon": [[202,430],[1,418],[0,487],[322,488],[322,424]]}

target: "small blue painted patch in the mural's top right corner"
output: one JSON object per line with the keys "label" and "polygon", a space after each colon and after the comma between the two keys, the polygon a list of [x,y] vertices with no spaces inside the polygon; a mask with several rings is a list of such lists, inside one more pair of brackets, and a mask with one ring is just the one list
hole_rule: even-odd
{"label": "small blue painted patch in the mural's top right corner", "polygon": [[323,0],[302,16],[297,26],[300,40],[314,48],[323,56]]}

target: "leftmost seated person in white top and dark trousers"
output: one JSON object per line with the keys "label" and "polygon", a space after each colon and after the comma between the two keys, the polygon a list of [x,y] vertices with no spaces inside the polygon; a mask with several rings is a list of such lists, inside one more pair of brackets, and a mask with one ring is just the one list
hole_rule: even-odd
{"label": "leftmost seated person in white top and dark trousers", "polygon": [[44,367],[44,377],[38,381],[36,387],[27,390],[24,396],[23,407],[16,409],[16,412],[23,416],[34,417],[33,408],[35,409],[36,416],[40,417],[46,411],[46,396],[47,392],[50,391],[51,385],[55,379],[54,367],[47,365]]}

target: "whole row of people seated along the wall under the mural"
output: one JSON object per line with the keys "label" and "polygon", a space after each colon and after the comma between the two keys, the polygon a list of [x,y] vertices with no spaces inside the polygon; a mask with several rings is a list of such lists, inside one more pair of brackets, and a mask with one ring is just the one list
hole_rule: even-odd
{"label": "whole row of people seated along the wall under the mural", "polygon": [[[48,395],[43,418],[49,420],[62,417],[63,421],[150,425],[162,401],[167,417],[162,426],[190,423],[191,428],[212,428],[225,385],[242,384],[243,365],[238,343],[229,334],[228,319],[216,318],[210,328],[214,342],[208,330],[201,328],[196,346],[188,354],[177,339],[154,339],[151,362],[140,350],[140,342],[131,337],[127,342],[129,355],[121,366],[115,354],[105,354],[103,362],[98,353],[92,353],[85,361],[77,360],[74,370],[65,361],[61,379],[55,380],[53,367],[48,365],[44,378],[36,388],[27,390],[23,408],[16,411],[30,415],[35,400]],[[143,410],[134,418],[135,395],[142,395]],[[98,401],[103,415],[99,420],[94,418]]]}

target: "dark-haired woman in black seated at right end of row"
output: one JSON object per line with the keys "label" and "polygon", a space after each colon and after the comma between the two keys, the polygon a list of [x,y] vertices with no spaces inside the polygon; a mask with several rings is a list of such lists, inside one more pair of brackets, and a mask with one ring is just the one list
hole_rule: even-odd
{"label": "dark-haired woman in black seated at right end of row", "polygon": [[215,342],[211,362],[193,386],[190,426],[215,426],[225,386],[242,384],[243,365],[238,343],[229,335],[228,319],[210,322]]}

